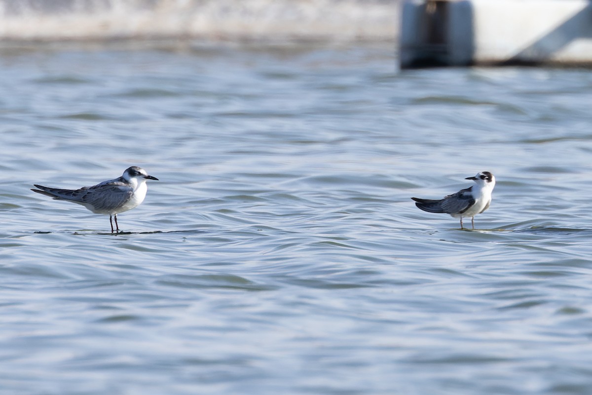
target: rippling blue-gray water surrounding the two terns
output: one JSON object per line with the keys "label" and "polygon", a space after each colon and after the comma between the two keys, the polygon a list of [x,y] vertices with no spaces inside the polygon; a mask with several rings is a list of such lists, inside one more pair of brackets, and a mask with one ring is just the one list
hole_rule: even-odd
{"label": "rippling blue-gray water surrounding the two terns", "polygon": [[[2,47],[2,394],[590,394],[592,73],[395,64]],[[121,235],[29,190],[130,165]],[[410,200],[481,170],[475,231]]]}

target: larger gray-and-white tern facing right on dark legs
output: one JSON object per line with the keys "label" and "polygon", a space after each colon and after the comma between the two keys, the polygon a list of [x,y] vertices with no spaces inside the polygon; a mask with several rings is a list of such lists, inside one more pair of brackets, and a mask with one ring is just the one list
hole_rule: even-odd
{"label": "larger gray-and-white tern facing right on dark legs", "polygon": [[144,201],[148,190],[147,179],[158,180],[158,178],[148,175],[144,169],[131,166],[123,172],[120,178],[103,181],[92,187],[82,187],[78,190],[62,190],[34,184],[39,189],[32,189],[31,191],[47,195],[54,198],[54,200],[65,200],[81,204],[95,214],[109,214],[111,233],[113,233],[113,217],[115,217],[116,231],[119,232],[117,214],[131,210]]}

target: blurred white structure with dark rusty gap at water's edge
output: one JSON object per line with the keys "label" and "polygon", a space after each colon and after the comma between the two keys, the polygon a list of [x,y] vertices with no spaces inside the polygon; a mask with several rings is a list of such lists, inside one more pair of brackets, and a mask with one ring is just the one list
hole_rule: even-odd
{"label": "blurred white structure with dark rusty gap at water's edge", "polygon": [[401,68],[592,65],[592,0],[406,0]]}

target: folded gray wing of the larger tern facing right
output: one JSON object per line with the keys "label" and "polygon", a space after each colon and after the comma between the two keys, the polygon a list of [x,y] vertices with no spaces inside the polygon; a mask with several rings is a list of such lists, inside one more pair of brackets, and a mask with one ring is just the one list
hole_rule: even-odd
{"label": "folded gray wing of the larger tern facing right", "polygon": [[110,182],[108,184],[94,185],[90,188],[81,188],[79,198],[81,203],[92,205],[97,211],[111,211],[124,205],[133,195],[133,189],[123,182]]}

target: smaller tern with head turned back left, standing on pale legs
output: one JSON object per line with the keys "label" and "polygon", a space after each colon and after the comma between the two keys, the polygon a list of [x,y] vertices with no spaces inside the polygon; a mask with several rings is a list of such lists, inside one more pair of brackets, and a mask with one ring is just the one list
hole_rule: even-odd
{"label": "smaller tern with head turned back left, standing on pale legs", "polygon": [[475,229],[475,216],[489,208],[491,204],[491,192],[496,186],[496,178],[490,172],[479,172],[472,179],[475,184],[455,194],[445,196],[440,200],[411,198],[415,205],[423,211],[429,213],[447,213],[452,217],[461,219],[461,229],[463,217],[471,217],[471,224]]}

